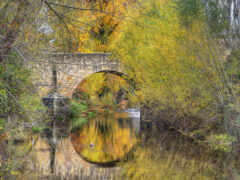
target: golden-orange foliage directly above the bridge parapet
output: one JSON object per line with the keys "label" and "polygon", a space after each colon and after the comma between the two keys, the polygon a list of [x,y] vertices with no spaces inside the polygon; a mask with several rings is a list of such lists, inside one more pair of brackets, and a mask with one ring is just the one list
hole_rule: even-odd
{"label": "golden-orange foliage directly above the bridge parapet", "polygon": [[74,47],[78,52],[106,52],[116,32],[121,27],[133,0],[84,1],[77,7],[89,9],[67,15],[74,19],[69,30],[74,37]]}

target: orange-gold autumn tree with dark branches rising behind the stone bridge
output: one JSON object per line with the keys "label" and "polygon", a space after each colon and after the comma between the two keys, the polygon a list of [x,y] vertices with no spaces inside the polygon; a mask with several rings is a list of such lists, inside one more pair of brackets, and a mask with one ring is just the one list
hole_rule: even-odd
{"label": "orange-gold autumn tree with dark branches rising behind the stone bridge", "polygon": [[[70,43],[72,51],[108,51],[108,46],[117,36],[116,32],[121,28],[128,9],[133,6],[136,6],[133,0],[81,1],[76,2],[75,7],[78,8],[74,11],[72,7],[62,5],[59,14],[65,24],[56,23],[53,26],[56,46],[64,50],[66,43]],[[67,28],[62,31],[64,26]]]}

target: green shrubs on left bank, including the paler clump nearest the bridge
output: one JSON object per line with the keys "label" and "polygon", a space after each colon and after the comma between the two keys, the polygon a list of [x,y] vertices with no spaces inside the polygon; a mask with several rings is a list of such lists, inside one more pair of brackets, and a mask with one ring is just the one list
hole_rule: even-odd
{"label": "green shrubs on left bank, including the paler clump nearest the bridge", "polygon": [[[0,66],[0,116],[14,114],[15,121],[40,121],[46,109],[41,98],[33,94],[31,74],[21,59],[12,53]],[[3,127],[2,124],[0,127]],[[17,130],[18,127],[14,127]],[[34,131],[34,128],[33,128]]]}

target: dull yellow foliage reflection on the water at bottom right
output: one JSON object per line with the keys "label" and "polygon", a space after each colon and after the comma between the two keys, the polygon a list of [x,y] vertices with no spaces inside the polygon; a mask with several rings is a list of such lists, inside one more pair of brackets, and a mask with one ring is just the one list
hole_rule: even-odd
{"label": "dull yellow foliage reflection on the water at bottom right", "polygon": [[193,146],[174,139],[168,139],[165,145],[156,141],[143,143],[136,147],[132,159],[121,164],[121,175],[129,180],[223,180],[229,177],[221,157],[214,162],[214,153],[204,153]]}

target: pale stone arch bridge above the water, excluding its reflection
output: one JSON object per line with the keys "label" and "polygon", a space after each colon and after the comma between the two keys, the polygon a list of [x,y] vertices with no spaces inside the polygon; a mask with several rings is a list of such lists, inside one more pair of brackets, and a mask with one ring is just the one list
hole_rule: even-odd
{"label": "pale stone arch bridge above the water, excluding its reflection", "polygon": [[87,76],[101,71],[122,72],[118,61],[110,60],[109,53],[54,53],[28,63],[33,71],[33,82],[40,96],[53,87],[53,68],[56,68],[57,89],[71,97],[74,89]]}

